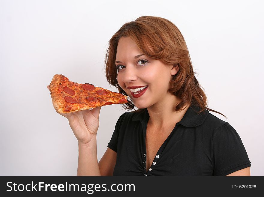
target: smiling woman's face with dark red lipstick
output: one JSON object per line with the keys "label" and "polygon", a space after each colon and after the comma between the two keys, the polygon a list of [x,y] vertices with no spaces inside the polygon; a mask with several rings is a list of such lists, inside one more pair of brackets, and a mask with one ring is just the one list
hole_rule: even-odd
{"label": "smiling woman's face with dark red lipstick", "polygon": [[[166,104],[166,98],[171,95],[168,92],[169,82],[172,75],[177,73],[178,67],[166,65],[146,55],[136,57],[141,54],[143,52],[130,37],[119,39],[116,53],[118,84],[137,108],[147,108],[156,103]],[[134,86],[142,88],[137,89]],[[137,91],[142,93],[137,94]]]}

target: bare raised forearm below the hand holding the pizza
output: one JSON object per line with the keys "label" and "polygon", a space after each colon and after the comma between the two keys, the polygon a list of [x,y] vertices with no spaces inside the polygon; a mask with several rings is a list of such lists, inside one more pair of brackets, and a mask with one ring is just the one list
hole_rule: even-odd
{"label": "bare raised forearm below the hand holding the pizza", "polygon": [[89,145],[78,144],[79,157],[77,176],[101,176],[98,159],[96,136],[94,136]]}

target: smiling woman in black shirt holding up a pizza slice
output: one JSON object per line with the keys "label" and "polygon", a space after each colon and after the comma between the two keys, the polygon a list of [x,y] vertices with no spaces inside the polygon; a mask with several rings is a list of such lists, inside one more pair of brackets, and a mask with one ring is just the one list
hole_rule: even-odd
{"label": "smiling woman in black shirt holding up a pizza slice", "polygon": [[216,111],[205,107],[186,43],[172,22],[141,16],[125,23],[109,44],[107,80],[130,97],[125,109],[138,109],[120,116],[99,163],[101,107],[61,114],[79,142],[77,175],[250,176],[238,133],[208,113]]}

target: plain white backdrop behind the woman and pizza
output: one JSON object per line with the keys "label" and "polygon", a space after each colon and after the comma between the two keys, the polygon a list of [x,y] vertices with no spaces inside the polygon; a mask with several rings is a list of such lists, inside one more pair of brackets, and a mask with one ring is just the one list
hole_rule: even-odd
{"label": "plain white backdrop behind the woman and pizza", "polygon": [[[52,106],[54,74],[110,87],[108,41],[139,16],[169,19],[182,32],[208,107],[238,132],[251,175],[263,169],[263,4],[261,1],[1,0],[0,175],[76,175],[78,142]],[[103,106],[98,161],[121,105]]]}

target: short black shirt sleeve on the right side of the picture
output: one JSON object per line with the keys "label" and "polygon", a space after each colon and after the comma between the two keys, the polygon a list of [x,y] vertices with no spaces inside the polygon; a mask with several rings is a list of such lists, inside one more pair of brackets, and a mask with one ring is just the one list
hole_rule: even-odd
{"label": "short black shirt sleeve on the right side of the picture", "polygon": [[214,133],[212,157],[214,176],[226,176],[251,166],[238,133],[228,123],[220,126]]}

